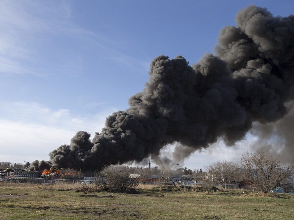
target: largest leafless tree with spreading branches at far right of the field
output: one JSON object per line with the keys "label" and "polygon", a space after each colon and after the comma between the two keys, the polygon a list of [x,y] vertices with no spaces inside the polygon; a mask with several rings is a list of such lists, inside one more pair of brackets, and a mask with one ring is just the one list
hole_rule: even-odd
{"label": "largest leafless tree with spreading branches at far right of the field", "polygon": [[287,185],[294,173],[292,164],[281,163],[277,157],[262,149],[244,153],[241,167],[247,180],[264,193]]}

